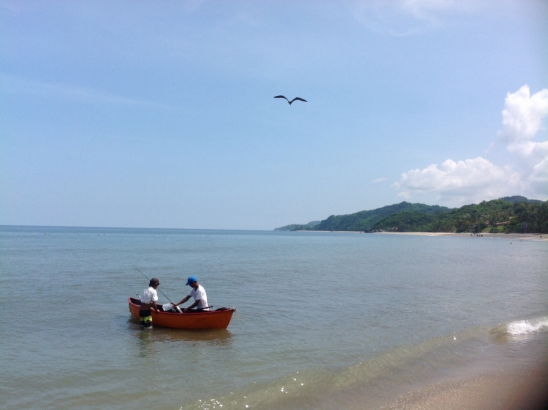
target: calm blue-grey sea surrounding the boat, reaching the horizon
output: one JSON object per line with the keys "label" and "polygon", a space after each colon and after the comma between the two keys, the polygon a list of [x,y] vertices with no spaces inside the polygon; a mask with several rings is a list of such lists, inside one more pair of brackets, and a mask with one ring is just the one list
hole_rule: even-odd
{"label": "calm blue-grey sea surrounding the boat, reaching the horizon", "polygon": [[[5,409],[375,409],[548,348],[546,241],[3,226],[0,244]],[[240,319],[140,330],[132,265],[172,300],[197,276]]]}

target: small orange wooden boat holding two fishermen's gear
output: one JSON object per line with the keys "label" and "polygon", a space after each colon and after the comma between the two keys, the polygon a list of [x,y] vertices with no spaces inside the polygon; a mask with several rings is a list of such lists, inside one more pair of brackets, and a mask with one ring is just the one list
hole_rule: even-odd
{"label": "small orange wooden boat holding two fishermen's gear", "polygon": [[[128,298],[129,312],[135,319],[139,319],[139,307],[141,301],[136,298]],[[161,309],[162,305],[158,305]],[[152,311],[153,326],[175,329],[225,329],[232,319],[235,309],[221,308],[216,311],[203,311],[195,313],[174,313]]]}

